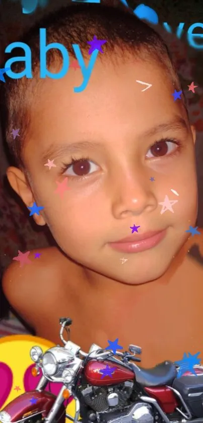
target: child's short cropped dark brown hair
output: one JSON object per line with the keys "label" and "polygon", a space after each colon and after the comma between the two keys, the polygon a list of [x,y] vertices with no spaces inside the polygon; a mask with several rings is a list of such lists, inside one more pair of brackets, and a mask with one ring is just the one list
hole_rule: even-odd
{"label": "child's short cropped dark brown hair", "polygon": [[[35,101],[35,95],[40,95],[40,85],[43,83],[38,84],[40,28],[46,28],[46,44],[61,43],[71,56],[75,56],[72,44],[79,44],[84,57],[90,57],[87,41],[96,35],[98,39],[107,40],[102,46],[104,54],[98,55],[102,61],[109,57],[112,62],[116,59],[116,54],[133,54],[136,58],[150,61],[154,59],[168,73],[174,88],[178,91],[181,89],[170,53],[161,36],[127,8],[78,3],[52,12],[35,24],[21,40],[29,45],[32,52],[33,78],[12,79],[5,76],[6,83],[2,84],[3,131],[15,164],[22,170],[25,169],[23,148],[29,135],[31,104]],[[12,52],[7,55],[7,59],[23,55],[21,48],[15,48],[14,51],[15,54]],[[49,49],[46,54],[47,69],[51,69],[57,59],[62,61],[60,50]],[[22,72],[24,68],[24,62],[15,62],[12,65],[12,71],[16,73]],[[20,137],[15,140],[12,136],[13,128],[20,128]]]}

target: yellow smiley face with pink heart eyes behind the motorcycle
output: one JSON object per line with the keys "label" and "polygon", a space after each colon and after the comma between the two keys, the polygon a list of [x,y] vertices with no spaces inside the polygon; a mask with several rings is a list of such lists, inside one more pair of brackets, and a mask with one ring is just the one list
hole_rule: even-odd
{"label": "yellow smiley face with pink heart eyes behind the motorcycle", "polygon": [[[33,377],[34,363],[30,358],[30,349],[38,345],[45,352],[54,344],[46,339],[32,335],[11,335],[0,339],[0,410],[24,392],[36,388],[41,376]],[[61,384],[50,383],[50,392],[57,395]],[[46,388],[48,390],[48,386]],[[66,412],[75,416],[75,401]],[[70,423],[66,419],[65,423]]]}

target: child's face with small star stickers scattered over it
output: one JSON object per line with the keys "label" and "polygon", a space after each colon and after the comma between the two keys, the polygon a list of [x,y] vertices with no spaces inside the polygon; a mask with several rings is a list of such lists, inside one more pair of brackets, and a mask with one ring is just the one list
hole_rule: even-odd
{"label": "child's face with small star stickers scattered over it", "polygon": [[[136,80],[152,87],[142,92],[146,86]],[[67,256],[124,283],[156,279],[196,220],[194,133],[182,100],[174,101],[173,84],[153,61],[117,59],[112,65],[97,59],[87,88],[75,93],[81,83],[81,72],[74,69],[62,79],[40,83],[25,147],[33,198],[23,182],[18,191],[27,206],[36,201],[44,207],[44,220],[35,214],[36,221],[48,224]],[[43,158],[49,149],[52,153]],[[83,161],[62,173],[72,157]],[[54,159],[56,167],[44,166],[47,159]],[[60,198],[54,193],[56,181],[65,177],[69,190]],[[166,195],[178,202],[173,213],[161,214],[159,203]],[[138,234],[131,234],[133,224],[140,226]],[[109,244],[163,230],[160,243],[142,252],[123,253]],[[127,262],[122,264],[122,258]]]}

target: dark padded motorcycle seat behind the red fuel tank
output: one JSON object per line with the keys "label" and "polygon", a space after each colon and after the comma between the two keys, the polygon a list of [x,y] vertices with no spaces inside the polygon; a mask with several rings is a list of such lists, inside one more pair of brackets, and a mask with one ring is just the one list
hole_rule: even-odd
{"label": "dark padded motorcycle seat behind the red fuel tank", "polygon": [[163,361],[152,369],[143,369],[132,362],[129,362],[128,366],[136,375],[136,381],[146,387],[170,385],[177,376],[177,370],[172,361]]}

